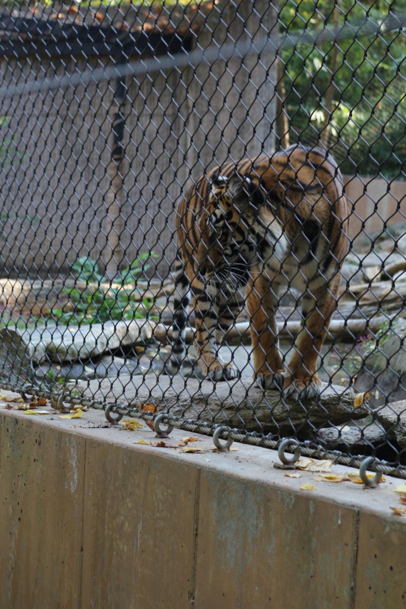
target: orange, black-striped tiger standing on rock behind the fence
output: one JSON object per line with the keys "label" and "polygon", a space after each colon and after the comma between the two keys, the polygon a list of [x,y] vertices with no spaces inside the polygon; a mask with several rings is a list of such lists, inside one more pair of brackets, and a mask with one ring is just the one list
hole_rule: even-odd
{"label": "orange, black-striped tiger standing on rock behind the fence", "polygon": [[[340,170],[331,154],[317,147],[297,144],[271,156],[229,161],[199,178],[177,206],[170,373],[186,356],[193,300],[203,376],[237,378],[234,362],[219,354],[216,330],[226,331],[245,306],[256,384],[293,400],[317,396],[318,356],[337,307],[348,224]],[[276,323],[286,285],[298,289],[302,300],[301,330],[289,362],[279,350]]]}

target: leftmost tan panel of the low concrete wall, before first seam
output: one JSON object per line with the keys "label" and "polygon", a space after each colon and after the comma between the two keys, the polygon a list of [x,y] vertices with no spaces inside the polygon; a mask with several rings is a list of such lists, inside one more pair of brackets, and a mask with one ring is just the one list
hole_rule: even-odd
{"label": "leftmost tan panel of the low concrete wall, before first seam", "polygon": [[78,607],[85,438],[4,413],[0,607]]}

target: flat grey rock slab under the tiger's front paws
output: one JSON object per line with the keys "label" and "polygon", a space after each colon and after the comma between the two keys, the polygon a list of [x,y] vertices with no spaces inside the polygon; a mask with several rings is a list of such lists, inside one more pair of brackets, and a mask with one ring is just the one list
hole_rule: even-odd
{"label": "flat grey rock slab under the tiger's front paws", "polygon": [[[169,378],[154,375],[120,376],[90,381],[83,384],[85,393],[96,399],[113,397],[125,403],[153,403],[160,412],[170,412],[175,418],[203,421],[209,424],[227,424],[233,428],[245,427],[249,431],[304,431],[322,428],[329,423],[339,425],[370,414],[368,406],[354,407],[352,390],[324,385],[318,400],[282,400],[275,390],[264,392],[252,379],[236,381],[198,381],[180,375]],[[124,389],[125,388],[125,389]],[[124,395],[123,395],[124,394]]]}

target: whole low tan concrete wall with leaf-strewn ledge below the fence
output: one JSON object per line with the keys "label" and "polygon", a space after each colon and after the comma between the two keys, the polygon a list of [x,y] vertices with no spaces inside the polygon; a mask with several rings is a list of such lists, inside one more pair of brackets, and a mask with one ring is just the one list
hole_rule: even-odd
{"label": "whole low tan concrete wall with leaf-strewn ledge below the fence", "polygon": [[399,479],[367,490],[286,477],[264,448],[139,445],[156,442],[149,428],[97,411],[0,407],[0,423],[0,607],[406,607]]}

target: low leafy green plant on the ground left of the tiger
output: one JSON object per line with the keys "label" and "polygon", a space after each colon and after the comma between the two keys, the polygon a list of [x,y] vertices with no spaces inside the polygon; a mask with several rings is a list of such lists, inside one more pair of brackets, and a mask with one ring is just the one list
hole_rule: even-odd
{"label": "low leafy green plant on the ground left of the tiger", "polygon": [[[138,289],[139,277],[149,268],[145,261],[148,254],[141,254],[114,281],[109,281],[100,273],[97,262],[78,258],[72,264],[72,270],[78,281],[86,283],[85,289],[72,287],[66,289],[74,311],[54,309],[52,312],[57,323],[79,324],[113,321],[130,321],[132,319],[157,319],[152,314],[152,298],[143,296],[144,290]],[[151,257],[157,255],[152,253]],[[103,284],[103,285],[102,285]]]}

